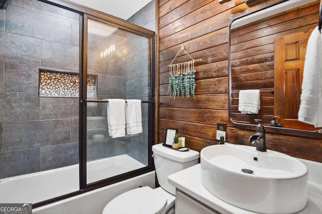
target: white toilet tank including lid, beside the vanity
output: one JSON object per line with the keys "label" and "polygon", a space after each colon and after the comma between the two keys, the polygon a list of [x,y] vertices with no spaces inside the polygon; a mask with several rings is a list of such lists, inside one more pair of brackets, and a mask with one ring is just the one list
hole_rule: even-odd
{"label": "white toilet tank including lid, beside the vanity", "polygon": [[155,156],[154,165],[158,183],[162,188],[175,195],[176,188],[168,182],[168,176],[197,164],[199,152],[192,149],[177,151],[165,147],[161,143],[153,145],[152,151]]}

